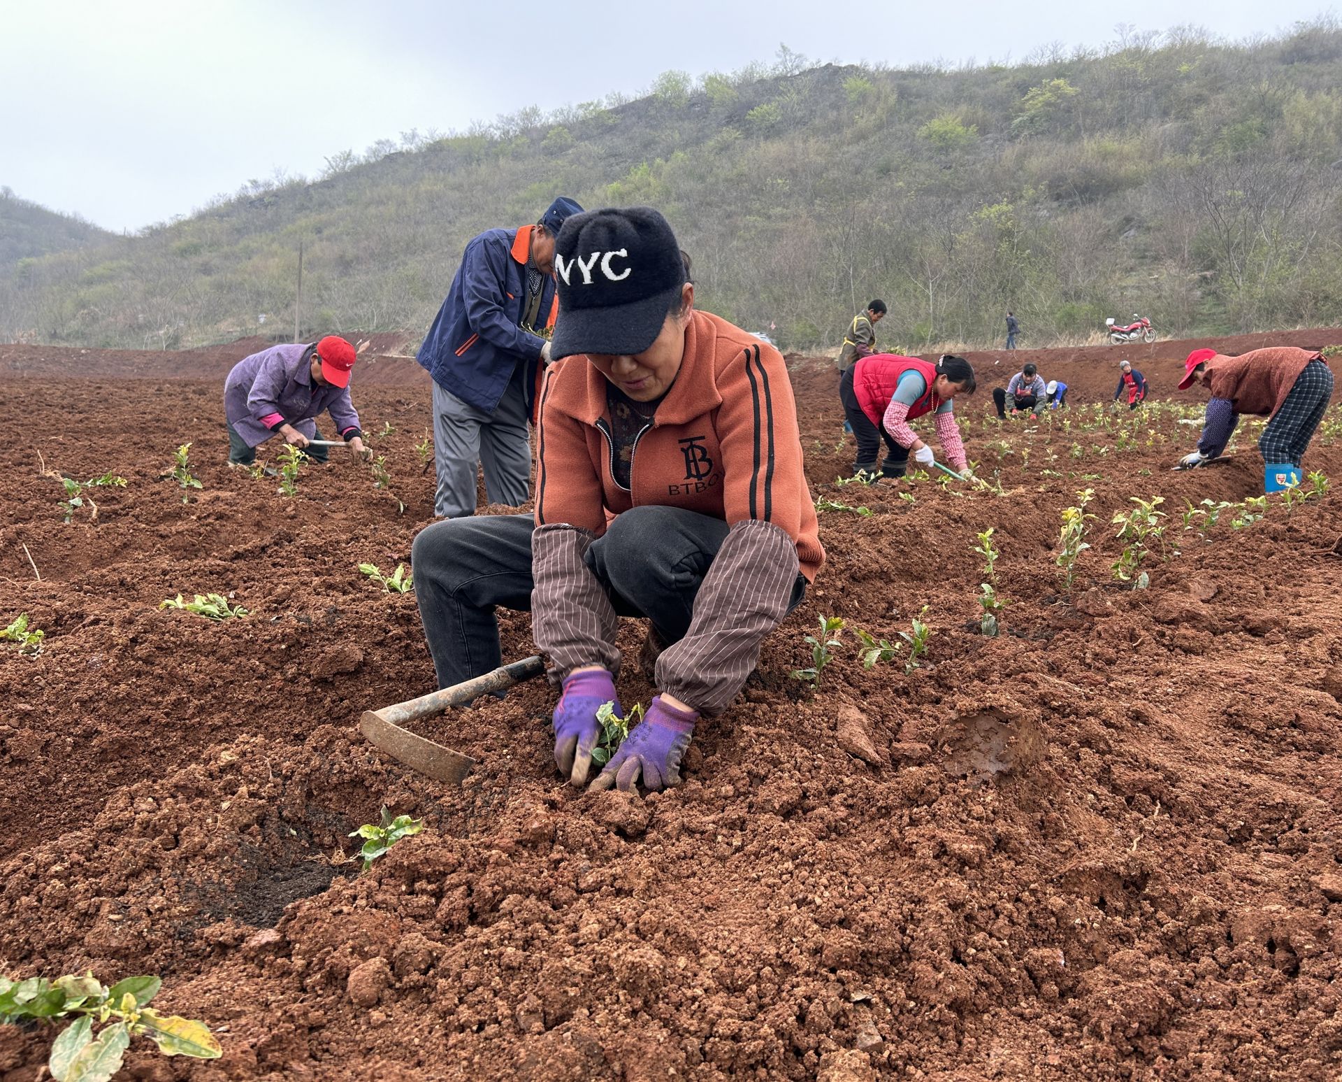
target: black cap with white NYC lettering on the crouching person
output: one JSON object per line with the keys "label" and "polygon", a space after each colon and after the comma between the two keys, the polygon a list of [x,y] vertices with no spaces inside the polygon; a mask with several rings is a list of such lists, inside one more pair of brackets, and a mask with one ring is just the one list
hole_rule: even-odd
{"label": "black cap with white NYC lettering on the crouching person", "polygon": [[680,246],[651,207],[574,215],[554,242],[560,317],[550,353],[643,353],[686,282]]}

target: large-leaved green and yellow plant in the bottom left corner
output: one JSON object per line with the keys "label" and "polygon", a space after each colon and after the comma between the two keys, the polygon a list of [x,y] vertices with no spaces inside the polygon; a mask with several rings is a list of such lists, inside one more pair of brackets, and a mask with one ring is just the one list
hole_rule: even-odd
{"label": "large-leaved green and yellow plant in the bottom left corner", "polygon": [[[164,1055],[217,1059],[223,1048],[208,1026],[161,1015],[148,1005],[160,987],[158,977],[126,977],[107,988],[93,973],[54,981],[0,977],[0,1024],[74,1016],[56,1036],[47,1061],[56,1082],[107,1082],[121,1069],[133,1036],[148,1036]],[[95,1034],[94,1026],[102,1028]]]}

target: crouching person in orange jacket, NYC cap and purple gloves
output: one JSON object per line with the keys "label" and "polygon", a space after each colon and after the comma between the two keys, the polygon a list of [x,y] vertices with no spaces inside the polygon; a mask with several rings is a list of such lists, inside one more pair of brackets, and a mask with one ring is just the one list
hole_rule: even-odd
{"label": "crouching person in orange jacket, NYC cap and purple gloves", "polygon": [[554,761],[574,785],[588,780],[597,710],[615,702],[623,717],[617,618],[647,618],[660,694],[593,785],[660,789],[824,560],[792,385],[773,346],[695,310],[654,209],[574,215],[554,268],[535,514],[425,528],[416,597],[443,687],[499,665],[495,605],[531,609],[562,685]]}

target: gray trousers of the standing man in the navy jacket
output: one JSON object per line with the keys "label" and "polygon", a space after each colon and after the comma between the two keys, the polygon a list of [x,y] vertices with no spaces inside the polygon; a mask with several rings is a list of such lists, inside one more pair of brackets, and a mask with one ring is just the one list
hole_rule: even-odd
{"label": "gray trousers of the standing man in the navy jacket", "polygon": [[531,442],[518,364],[493,413],[476,409],[433,383],[433,460],[437,493],[433,514],[464,518],[475,514],[476,469],[484,466],[490,503],[515,507],[531,487]]}

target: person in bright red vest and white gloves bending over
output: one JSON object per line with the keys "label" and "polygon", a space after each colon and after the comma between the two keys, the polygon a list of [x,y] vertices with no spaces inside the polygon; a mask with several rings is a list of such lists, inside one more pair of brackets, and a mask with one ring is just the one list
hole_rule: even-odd
{"label": "person in bright red vest and white gloves bending over", "polygon": [[886,442],[883,477],[903,477],[909,452],[919,466],[931,466],[935,455],[909,422],[933,415],[937,439],[957,473],[969,475],[965,444],[951,413],[951,399],[974,393],[974,369],[964,357],[945,356],[937,364],[918,357],[878,353],[863,357],[843,373],[839,397],[858,440],[854,474],[876,477],[876,455]]}

